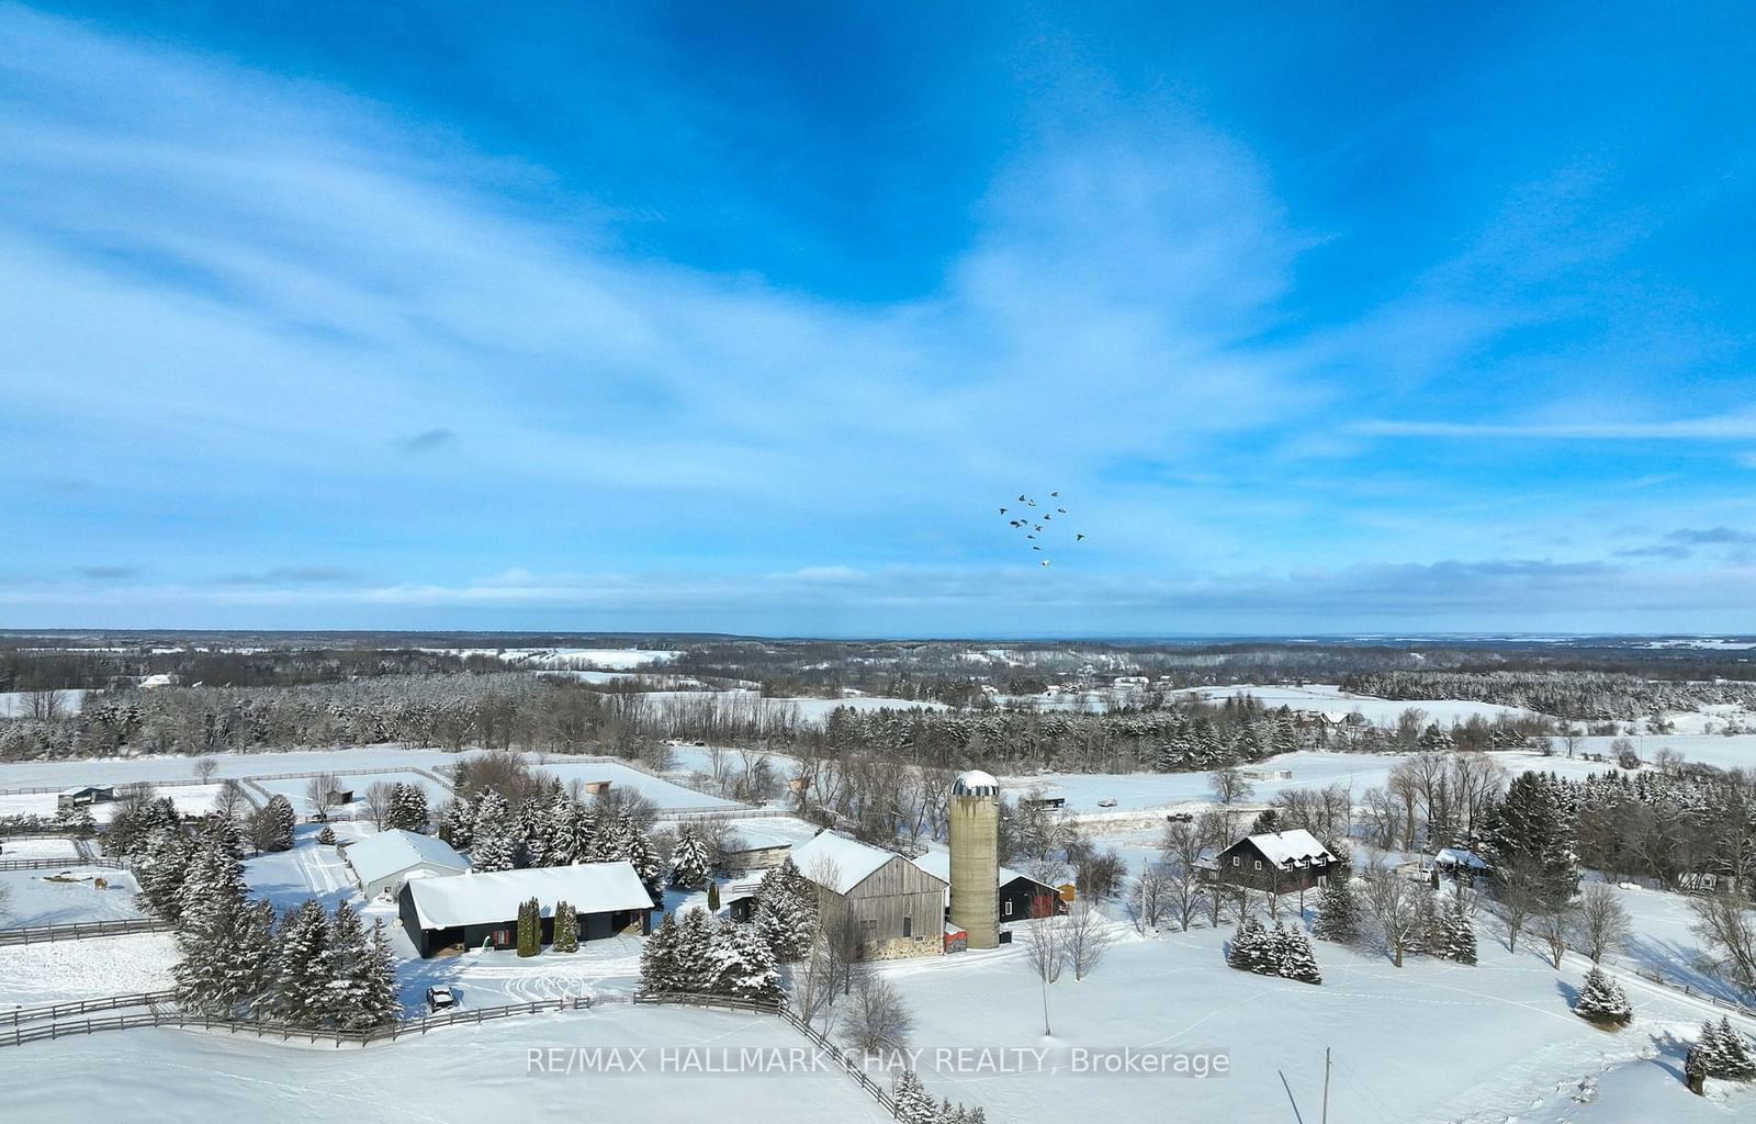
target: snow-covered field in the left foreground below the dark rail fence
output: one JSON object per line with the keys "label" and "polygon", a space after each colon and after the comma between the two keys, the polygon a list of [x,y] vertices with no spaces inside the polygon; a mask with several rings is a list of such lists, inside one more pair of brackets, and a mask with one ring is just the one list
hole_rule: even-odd
{"label": "snow-covered field in the left foreground below the dark rail fence", "polygon": [[[673,1047],[802,1047],[780,1019],[604,1006],[453,1027],[367,1050],[299,1048],[188,1031],[123,1031],[19,1047],[9,1120],[697,1120],[880,1124],[846,1075],[660,1073]],[[530,1050],[644,1048],[646,1073],[532,1073]],[[989,1115],[990,1120],[1001,1117]]]}

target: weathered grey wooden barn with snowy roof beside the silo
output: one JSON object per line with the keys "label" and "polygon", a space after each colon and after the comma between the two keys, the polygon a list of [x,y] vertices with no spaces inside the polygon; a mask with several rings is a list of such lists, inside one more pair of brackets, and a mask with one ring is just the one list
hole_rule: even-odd
{"label": "weathered grey wooden barn with snowy roof beside the silo", "polygon": [[817,883],[824,915],[845,911],[860,931],[867,961],[938,955],[945,950],[945,878],[903,855],[825,831],[795,847],[792,862]]}

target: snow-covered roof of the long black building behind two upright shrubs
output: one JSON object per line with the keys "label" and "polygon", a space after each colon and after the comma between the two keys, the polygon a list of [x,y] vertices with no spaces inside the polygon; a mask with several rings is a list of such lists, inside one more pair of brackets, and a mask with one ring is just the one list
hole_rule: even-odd
{"label": "snow-covered roof of the long black building behind two upright shrubs", "polygon": [[416,878],[409,882],[407,892],[421,929],[509,922],[518,917],[518,904],[530,897],[537,899],[543,917],[555,915],[557,901],[565,901],[579,913],[650,910],[653,904],[634,864],[627,861]]}

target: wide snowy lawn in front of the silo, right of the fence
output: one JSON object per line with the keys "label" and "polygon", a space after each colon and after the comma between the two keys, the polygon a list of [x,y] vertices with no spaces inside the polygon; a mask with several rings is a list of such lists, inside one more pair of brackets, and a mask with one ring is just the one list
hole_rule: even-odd
{"label": "wide snowy lawn in front of the silo, right of the fence", "polygon": [[[1082,1119],[1292,1120],[1317,1115],[1324,1047],[1335,1050],[1331,1119],[1442,1120],[1556,1119],[1526,1115],[1558,1091],[1605,1066],[1661,1054],[1668,1038],[1693,1034],[1702,1005],[1630,985],[1635,1024],[1605,1034],[1568,1012],[1582,969],[1561,973],[1535,954],[1507,954],[1486,934],[1482,964],[1465,968],[1382,957],[1319,943],[1326,982],[1310,987],[1224,966],[1229,929],[1147,941],[1129,936],[1083,982],[1050,989],[1054,1038],[1043,1036],[1041,985],[1022,948],[887,966],[904,992],[917,1047],[1085,1047],[1224,1050],[1231,1075],[1124,1078],[1055,1073],[997,1077],[934,1071],[936,1096],[982,1103],[989,1119],[1018,1120],[1040,1105],[1068,1101]],[[1756,1029],[1756,1027],[1747,1027]],[[1062,1063],[1068,1059],[1062,1057]],[[929,1056],[931,1063],[931,1056]],[[1675,1112],[1695,1112],[1680,1082]],[[1756,1113],[1756,1091],[1737,1094]],[[1637,1124],[1665,1115],[1598,1115]],[[1749,1119],[1749,1117],[1745,1117]]]}

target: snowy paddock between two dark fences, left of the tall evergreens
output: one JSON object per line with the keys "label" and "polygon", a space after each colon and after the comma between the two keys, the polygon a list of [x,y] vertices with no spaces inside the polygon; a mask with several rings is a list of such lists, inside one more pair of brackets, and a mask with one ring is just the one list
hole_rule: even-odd
{"label": "snowy paddock between two dark fences, left of the tall evergreens", "polygon": [[[170,966],[176,962],[177,943],[169,933],[0,945],[0,1010],[162,991],[172,985]],[[0,1066],[12,1063],[7,1057]]]}

